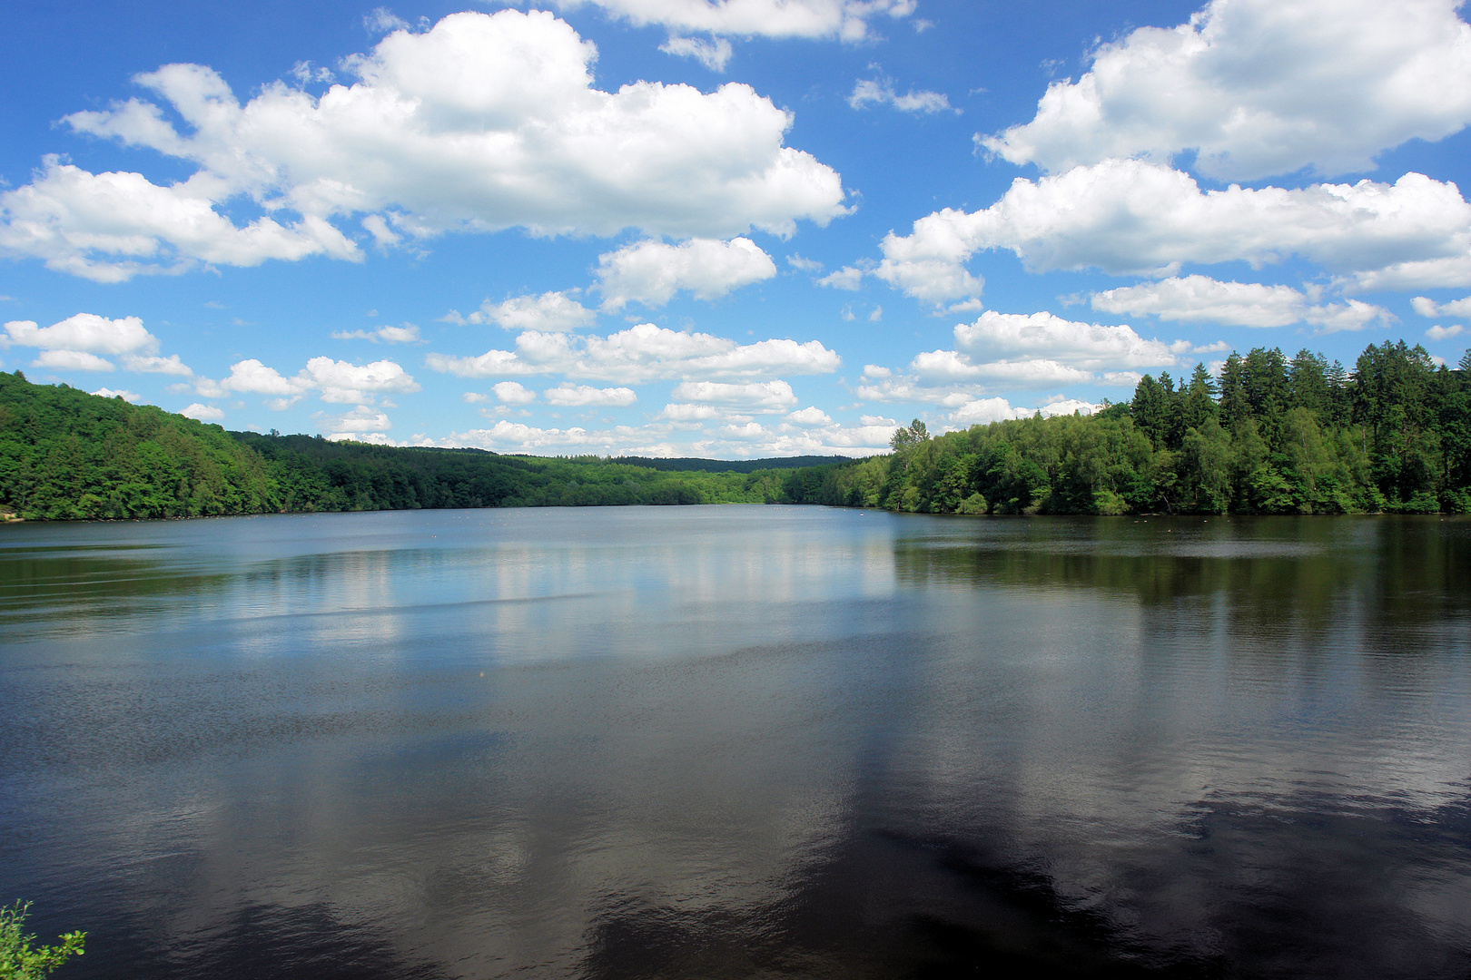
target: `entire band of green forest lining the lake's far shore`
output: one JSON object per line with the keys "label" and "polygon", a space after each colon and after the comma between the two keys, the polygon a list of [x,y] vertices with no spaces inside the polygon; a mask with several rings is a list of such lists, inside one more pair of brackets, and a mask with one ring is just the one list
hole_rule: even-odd
{"label": "entire band of green forest lining the lake's far shore", "polygon": [[1352,370],[1233,353],[1091,416],[931,436],[866,460],[502,455],[227,432],[0,373],[0,511],[28,520],[438,507],[793,502],[956,514],[1471,513],[1471,351],[1403,341]]}

